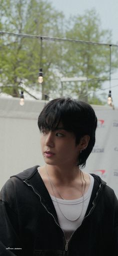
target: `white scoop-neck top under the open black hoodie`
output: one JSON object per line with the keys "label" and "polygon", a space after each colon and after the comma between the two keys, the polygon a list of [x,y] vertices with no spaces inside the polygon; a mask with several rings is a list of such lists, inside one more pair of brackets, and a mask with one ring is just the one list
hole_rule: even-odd
{"label": "white scoop-neck top under the open black hoodie", "polygon": [[[94,178],[90,174],[88,175],[90,178],[90,185],[83,197],[80,197],[75,200],[63,200],[59,198],[55,199],[54,196],[50,195],[57,213],[59,225],[61,229],[64,231],[66,241],[69,240],[74,230],[81,225],[81,222],[87,210],[87,206],[90,200],[94,183]],[[66,219],[62,213],[69,220]]]}

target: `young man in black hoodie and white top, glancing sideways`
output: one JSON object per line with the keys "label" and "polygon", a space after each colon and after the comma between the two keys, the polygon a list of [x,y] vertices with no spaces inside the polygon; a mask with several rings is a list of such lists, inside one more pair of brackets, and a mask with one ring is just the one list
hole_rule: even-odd
{"label": "young man in black hoodie and white top, glancing sideways", "polygon": [[81,171],[95,143],[89,104],[49,101],[38,117],[44,166],[27,169],[0,192],[0,255],[117,256],[118,202]]}

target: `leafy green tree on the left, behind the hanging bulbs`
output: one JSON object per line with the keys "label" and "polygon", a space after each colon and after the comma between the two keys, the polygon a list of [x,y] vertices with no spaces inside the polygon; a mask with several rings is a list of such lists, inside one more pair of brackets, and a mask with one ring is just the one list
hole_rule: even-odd
{"label": "leafy green tree on the left, behind the hanging bulbs", "polygon": [[[3,19],[2,30],[12,33],[30,35],[62,37],[62,24],[64,16],[52,9],[47,1],[12,1],[5,0],[0,3],[0,13]],[[6,8],[7,7],[7,8]],[[59,57],[58,44],[54,42],[26,37],[3,38],[2,56],[0,64],[0,78],[5,87],[2,91],[19,96],[19,86],[23,81],[25,85],[37,89],[38,69],[43,68],[44,80],[41,88],[42,97],[55,87],[51,67]],[[51,80],[50,81],[50,77]],[[12,87],[10,87],[12,86]]]}

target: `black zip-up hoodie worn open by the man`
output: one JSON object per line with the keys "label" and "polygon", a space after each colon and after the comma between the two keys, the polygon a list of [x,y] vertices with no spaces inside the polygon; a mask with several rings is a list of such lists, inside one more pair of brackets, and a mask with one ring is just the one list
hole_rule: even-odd
{"label": "black zip-up hoodie worn open by the man", "polygon": [[0,256],[117,256],[118,201],[97,175],[81,225],[66,242],[48,191],[29,168],[0,192]]}

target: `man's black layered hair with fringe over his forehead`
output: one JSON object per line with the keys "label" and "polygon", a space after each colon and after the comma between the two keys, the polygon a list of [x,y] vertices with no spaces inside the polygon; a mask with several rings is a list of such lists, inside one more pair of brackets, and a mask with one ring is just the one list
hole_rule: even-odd
{"label": "man's black layered hair with fringe over his forehead", "polygon": [[90,137],[87,148],[78,156],[77,165],[84,167],[95,144],[97,117],[93,108],[88,103],[70,98],[52,99],[38,116],[39,130],[54,131],[60,122],[64,130],[74,134],[76,145],[84,135]]}

